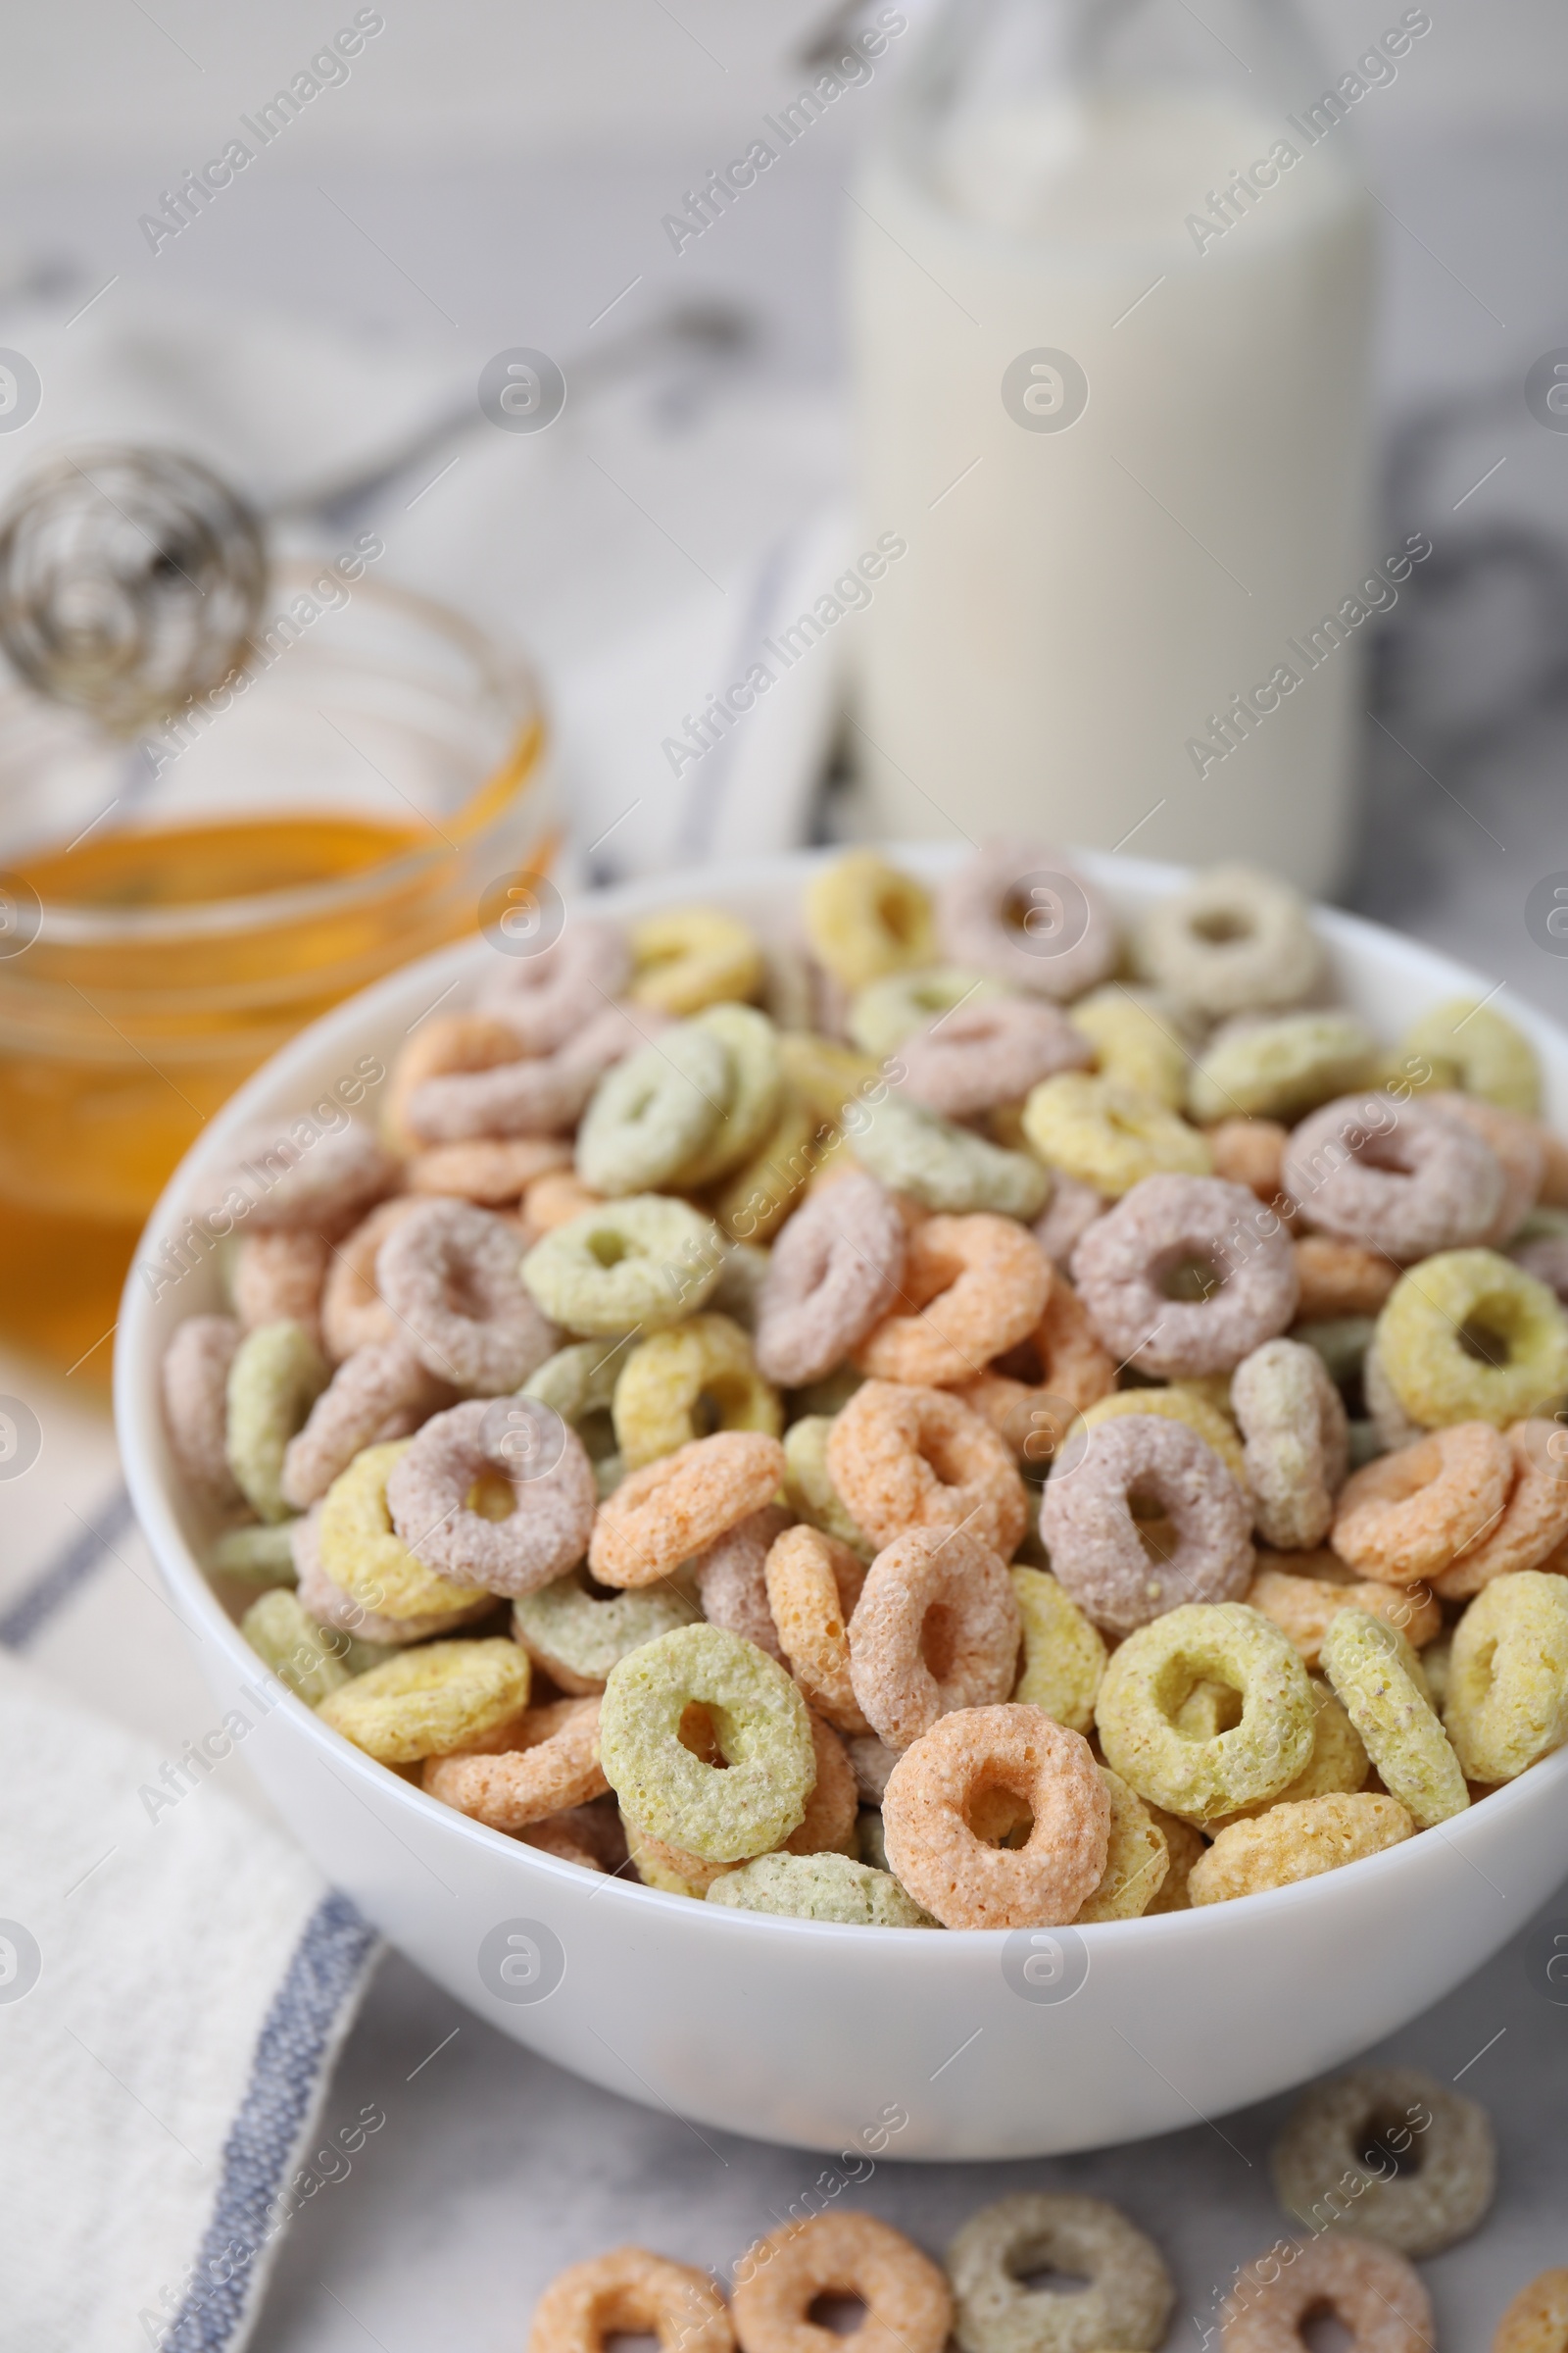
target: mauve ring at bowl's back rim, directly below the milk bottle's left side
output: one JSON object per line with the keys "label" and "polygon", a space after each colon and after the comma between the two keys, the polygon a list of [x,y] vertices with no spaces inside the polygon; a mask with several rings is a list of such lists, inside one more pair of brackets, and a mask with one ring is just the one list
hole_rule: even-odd
{"label": "mauve ring at bowl's back rim, directly below the milk bottle's left side", "polygon": [[938,889],[943,948],[1034,998],[1081,998],[1121,939],[1100,892],[1044,842],[990,840]]}

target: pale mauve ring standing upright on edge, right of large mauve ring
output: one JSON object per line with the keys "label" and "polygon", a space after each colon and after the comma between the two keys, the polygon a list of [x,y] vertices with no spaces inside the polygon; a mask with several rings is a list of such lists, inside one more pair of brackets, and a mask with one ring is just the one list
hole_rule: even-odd
{"label": "pale mauve ring standing upright on edge, right of large mauve ring", "polygon": [[1349,1438],[1340,1391],[1314,1348],[1272,1339],[1241,1358],[1229,1395],[1258,1534],[1279,1551],[1305,1553],[1328,1534],[1345,1485]]}

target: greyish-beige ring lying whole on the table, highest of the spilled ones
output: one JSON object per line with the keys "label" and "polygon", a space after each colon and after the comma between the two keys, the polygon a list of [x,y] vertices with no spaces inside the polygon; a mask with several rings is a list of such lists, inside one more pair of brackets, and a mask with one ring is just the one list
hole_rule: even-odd
{"label": "greyish-beige ring lying whole on the table, highest of the spilled ones", "polygon": [[[1418,2134],[1406,2174],[1399,2158]],[[1371,2169],[1373,2146],[1394,2158],[1392,2169]],[[1281,2207],[1309,2231],[1349,2221],[1363,2238],[1425,2257],[1467,2238],[1486,2214],[1497,2146],[1474,2099],[1413,2068],[1375,2066],[1316,2082],[1274,2141],[1269,2169]]]}

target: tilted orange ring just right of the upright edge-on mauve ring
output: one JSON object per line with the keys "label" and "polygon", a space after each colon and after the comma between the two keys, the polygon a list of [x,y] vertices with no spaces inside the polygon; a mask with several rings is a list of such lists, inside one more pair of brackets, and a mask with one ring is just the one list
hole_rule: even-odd
{"label": "tilted orange ring just right of the upright edge-on mauve ring", "polygon": [[1441,1577],[1500,1522],[1512,1485],[1502,1431],[1455,1421],[1347,1478],[1328,1541],[1352,1569],[1392,1586]]}

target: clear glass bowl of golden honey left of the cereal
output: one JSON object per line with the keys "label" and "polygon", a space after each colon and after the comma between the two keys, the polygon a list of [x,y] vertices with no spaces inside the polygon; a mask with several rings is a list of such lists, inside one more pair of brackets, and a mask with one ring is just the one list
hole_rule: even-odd
{"label": "clear glass bowl of golden honey left of the cereal", "polygon": [[527,661],[369,576],[280,562],[270,605],[139,744],[0,685],[0,1334],[94,1386],[219,1104],[557,847]]}

